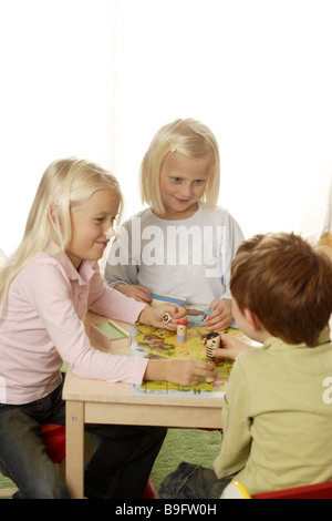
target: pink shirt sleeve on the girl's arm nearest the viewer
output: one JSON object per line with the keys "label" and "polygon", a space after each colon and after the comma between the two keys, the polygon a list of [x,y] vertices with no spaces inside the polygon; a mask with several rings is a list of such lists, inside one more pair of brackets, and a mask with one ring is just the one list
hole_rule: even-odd
{"label": "pink shirt sleeve on the girl's arm nearest the viewer", "polygon": [[[60,269],[51,264],[31,265],[24,283],[25,298],[29,298],[39,314],[46,333],[45,346],[55,346],[61,358],[79,377],[108,381],[141,384],[147,360],[138,357],[111,355],[94,349],[77,317],[71,300],[71,285]],[[122,306],[120,306],[122,309]],[[138,308],[137,308],[138,309]],[[135,311],[136,313],[136,311]],[[124,318],[137,318],[135,313]],[[51,343],[50,343],[51,339]],[[45,347],[46,349],[46,347]]]}

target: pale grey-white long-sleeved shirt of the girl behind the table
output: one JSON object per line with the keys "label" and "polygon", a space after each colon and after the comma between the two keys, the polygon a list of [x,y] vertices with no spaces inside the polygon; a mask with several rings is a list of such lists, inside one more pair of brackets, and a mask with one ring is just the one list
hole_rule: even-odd
{"label": "pale grey-white long-sleeved shirt of the girl behind the table", "polygon": [[230,264],[243,235],[224,208],[167,221],[147,208],[124,223],[110,251],[105,279],[111,287],[133,284],[178,295],[188,304],[230,298]]}

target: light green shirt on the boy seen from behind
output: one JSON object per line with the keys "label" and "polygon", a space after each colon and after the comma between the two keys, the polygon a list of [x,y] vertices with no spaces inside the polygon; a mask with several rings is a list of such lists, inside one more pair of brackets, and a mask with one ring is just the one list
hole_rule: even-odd
{"label": "light green shirt on the boy seen from behind", "polygon": [[216,473],[239,472],[237,480],[251,494],[330,480],[329,331],[320,336],[319,347],[290,346],[270,337],[262,349],[240,355],[231,372],[222,423],[226,436],[215,461]]}

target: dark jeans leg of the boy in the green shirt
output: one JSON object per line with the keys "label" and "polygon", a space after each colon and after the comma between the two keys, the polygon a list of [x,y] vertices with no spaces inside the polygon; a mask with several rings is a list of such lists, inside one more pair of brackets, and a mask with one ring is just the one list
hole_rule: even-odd
{"label": "dark jeans leg of the boy in the green shirt", "polygon": [[219,499],[231,479],[218,479],[212,469],[180,463],[160,484],[160,499]]}

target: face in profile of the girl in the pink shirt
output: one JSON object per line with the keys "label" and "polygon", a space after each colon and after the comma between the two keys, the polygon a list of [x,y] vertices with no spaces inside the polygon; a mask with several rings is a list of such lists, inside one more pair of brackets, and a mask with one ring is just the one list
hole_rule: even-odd
{"label": "face in profile of the girl in the pink shirt", "polygon": [[113,190],[103,188],[72,208],[72,238],[65,253],[76,269],[83,259],[97,260],[103,256],[118,206],[120,196]]}

